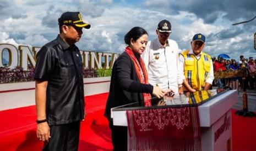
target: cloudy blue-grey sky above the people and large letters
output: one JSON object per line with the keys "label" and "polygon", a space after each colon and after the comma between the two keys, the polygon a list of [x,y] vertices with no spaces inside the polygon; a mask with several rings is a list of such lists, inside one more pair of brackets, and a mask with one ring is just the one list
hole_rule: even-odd
{"label": "cloudy blue-grey sky above the people and large letters", "polygon": [[151,40],[158,22],[167,19],[172,24],[170,38],[181,50],[189,49],[193,35],[202,33],[204,51],[211,56],[256,57],[256,19],[232,26],[256,16],[255,6],[255,0],[0,0],[0,43],[42,47],[56,38],[57,19],[64,11],[80,11],[91,24],[77,43],[81,50],[121,53],[130,28],[145,28]]}

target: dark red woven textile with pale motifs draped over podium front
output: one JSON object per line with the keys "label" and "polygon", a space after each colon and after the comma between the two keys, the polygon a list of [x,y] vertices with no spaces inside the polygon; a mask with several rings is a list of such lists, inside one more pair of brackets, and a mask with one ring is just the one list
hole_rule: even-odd
{"label": "dark red woven textile with pale motifs draped over podium front", "polygon": [[126,111],[128,150],[200,151],[198,107]]}

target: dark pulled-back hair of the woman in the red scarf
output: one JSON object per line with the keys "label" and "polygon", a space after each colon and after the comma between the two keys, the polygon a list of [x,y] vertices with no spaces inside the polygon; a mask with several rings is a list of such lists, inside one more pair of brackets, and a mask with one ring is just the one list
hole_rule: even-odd
{"label": "dark pulled-back hair of the woman in the red scarf", "polygon": [[124,36],[124,42],[128,45],[130,45],[130,39],[133,39],[136,41],[139,39],[143,34],[148,34],[146,30],[144,30],[142,27],[133,27],[127,34]]}

